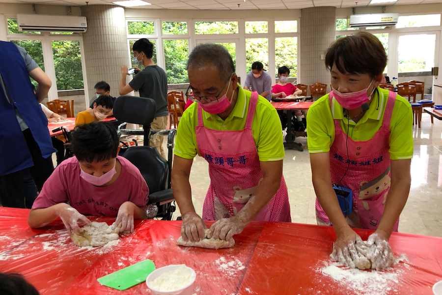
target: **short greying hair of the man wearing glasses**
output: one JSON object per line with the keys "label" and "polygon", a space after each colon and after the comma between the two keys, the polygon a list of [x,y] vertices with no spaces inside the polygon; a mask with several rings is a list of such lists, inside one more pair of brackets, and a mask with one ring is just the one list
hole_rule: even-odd
{"label": "short greying hair of the man wearing glasses", "polygon": [[227,81],[235,72],[235,65],[227,49],[224,46],[204,43],[193,48],[187,60],[186,70],[190,67],[203,67],[208,63],[214,64],[220,70],[222,80]]}

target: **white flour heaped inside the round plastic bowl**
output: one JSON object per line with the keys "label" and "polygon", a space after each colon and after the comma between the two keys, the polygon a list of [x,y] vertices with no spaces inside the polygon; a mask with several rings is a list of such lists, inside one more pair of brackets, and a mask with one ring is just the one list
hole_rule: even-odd
{"label": "white flour heaped inside the round plastic bowl", "polygon": [[158,291],[175,291],[182,289],[195,280],[195,273],[185,265],[168,271],[149,282],[150,286]]}

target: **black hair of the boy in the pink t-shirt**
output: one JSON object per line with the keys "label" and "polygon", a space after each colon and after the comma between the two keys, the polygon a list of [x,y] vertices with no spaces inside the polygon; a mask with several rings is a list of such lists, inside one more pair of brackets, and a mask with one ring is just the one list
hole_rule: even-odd
{"label": "black hair of the boy in the pink t-shirt", "polygon": [[119,138],[109,122],[78,125],[72,132],[71,150],[79,161],[102,162],[116,157]]}

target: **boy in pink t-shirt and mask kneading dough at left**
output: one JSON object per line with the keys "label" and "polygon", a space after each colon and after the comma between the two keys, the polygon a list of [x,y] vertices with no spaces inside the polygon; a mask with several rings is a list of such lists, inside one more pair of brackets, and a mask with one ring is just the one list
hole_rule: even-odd
{"label": "boy in pink t-shirt and mask kneading dough at left", "polygon": [[79,220],[90,223],[84,215],[116,216],[120,232],[133,232],[134,218],[146,218],[149,188],[137,167],[117,156],[115,128],[106,122],[79,125],[71,149],[75,156],[57,166],[35,200],[29,226],[39,228],[60,217],[69,232],[78,234]]}

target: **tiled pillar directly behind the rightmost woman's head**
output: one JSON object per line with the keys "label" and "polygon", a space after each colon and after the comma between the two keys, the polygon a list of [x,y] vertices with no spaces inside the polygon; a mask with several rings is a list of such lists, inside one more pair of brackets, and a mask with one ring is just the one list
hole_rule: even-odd
{"label": "tiled pillar directly behind the rightmost woman's head", "polygon": [[300,22],[300,71],[299,83],[311,85],[316,82],[328,85],[330,72],[321,55],[335,41],[336,7],[311,7],[301,9]]}

